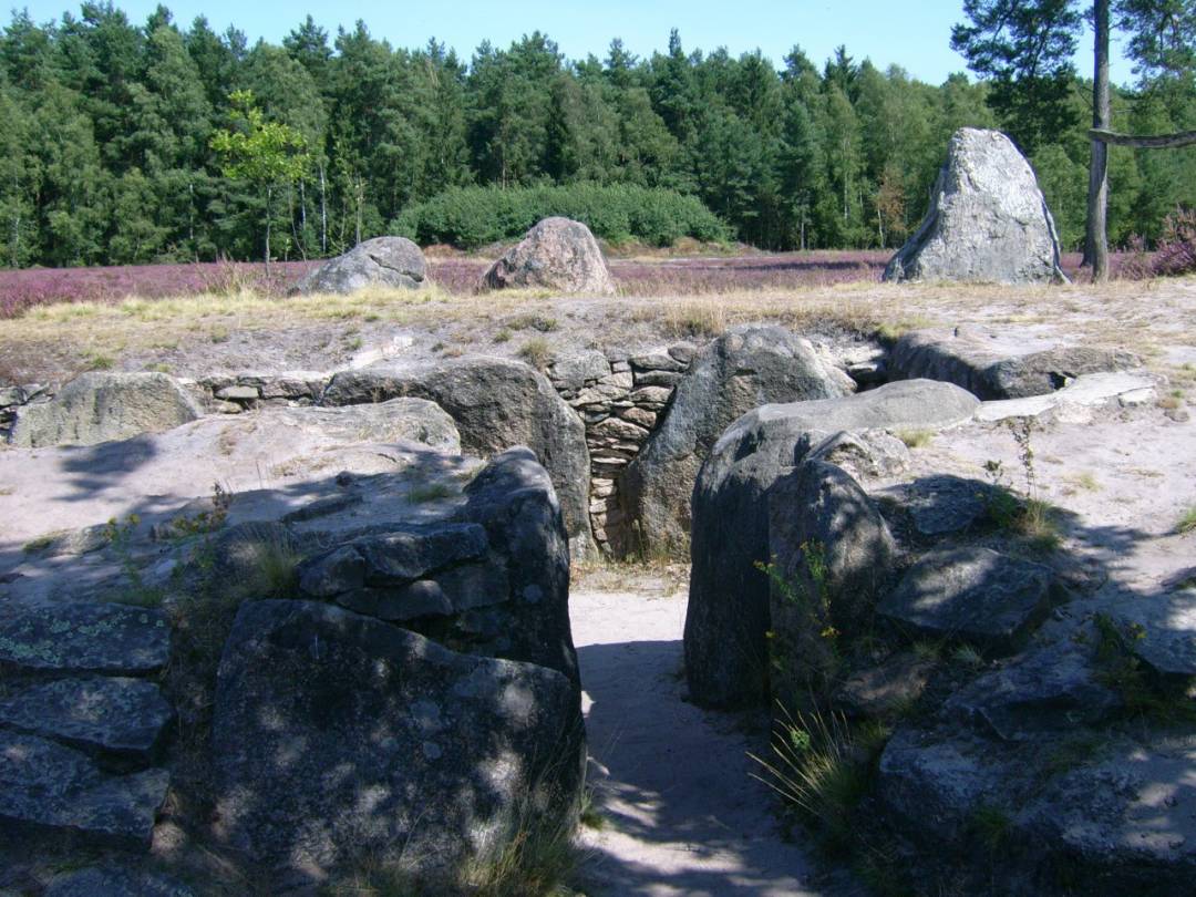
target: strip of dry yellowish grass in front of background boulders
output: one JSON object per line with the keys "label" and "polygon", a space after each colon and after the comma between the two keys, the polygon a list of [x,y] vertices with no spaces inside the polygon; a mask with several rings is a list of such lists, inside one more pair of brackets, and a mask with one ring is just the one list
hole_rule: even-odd
{"label": "strip of dry yellowish grass in front of background boulders", "polygon": [[[402,327],[494,344],[525,322],[547,318],[553,307],[562,344],[568,337],[617,342],[645,329],[666,338],[709,338],[743,323],[768,322],[797,331],[841,329],[896,338],[908,329],[960,322],[1023,322],[1049,327],[1085,343],[1117,344],[1140,353],[1148,366],[1171,376],[1191,376],[1167,365],[1164,348],[1196,344],[1196,279],[1115,281],[1063,287],[890,285],[875,282],[789,289],[744,288],[708,294],[622,295],[563,300],[545,291],[457,294],[435,285],[425,291],[365,289],[353,295],[276,298],[248,289],[175,299],[129,298],[110,304],[61,304],[0,321],[0,370],[13,382],[24,374],[73,376],[123,355],[208,352],[240,332],[274,338],[303,328],[340,323],[348,328]],[[574,312],[579,321],[569,321]],[[600,330],[594,331],[594,322]],[[1048,322],[1030,324],[1025,322]],[[554,325],[557,323],[554,319]],[[531,328],[541,329],[543,328]],[[330,328],[332,332],[335,328]],[[310,337],[309,337],[310,338]],[[501,338],[501,337],[500,337]],[[512,341],[514,342],[514,341]],[[159,359],[150,359],[150,364]],[[171,359],[173,361],[173,359]]]}

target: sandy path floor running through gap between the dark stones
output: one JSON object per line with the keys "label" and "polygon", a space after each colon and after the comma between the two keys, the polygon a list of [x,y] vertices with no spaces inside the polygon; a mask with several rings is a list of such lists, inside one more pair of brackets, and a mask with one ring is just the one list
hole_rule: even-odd
{"label": "sandy path floor running through gap between the dark stones", "polygon": [[[844,895],[783,837],[748,751],[759,716],[701,710],[682,676],[684,591],[636,579],[630,591],[569,597],[584,683],[590,786],[605,820],[584,829],[587,895]],[[834,887],[834,890],[831,890]]]}

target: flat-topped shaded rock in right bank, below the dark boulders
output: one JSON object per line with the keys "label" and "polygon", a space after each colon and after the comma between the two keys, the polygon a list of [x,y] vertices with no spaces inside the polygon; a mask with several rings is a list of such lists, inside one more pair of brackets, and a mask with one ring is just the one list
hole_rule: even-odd
{"label": "flat-topped shaded rock in right bank, below the dark boulders", "polygon": [[954,548],[922,557],[877,610],[909,631],[1008,654],[1045,618],[1050,586],[1050,569],[1041,563]]}

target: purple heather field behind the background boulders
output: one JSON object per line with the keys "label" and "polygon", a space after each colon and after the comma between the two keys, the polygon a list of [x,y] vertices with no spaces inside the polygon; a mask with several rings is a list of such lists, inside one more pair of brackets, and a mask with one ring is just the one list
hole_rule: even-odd
{"label": "purple heather field behind the background boulders", "polygon": [[[736,289],[787,289],[878,281],[889,250],[811,251],[737,256],[612,258],[610,269],[621,291],[630,295],[721,293]],[[1113,254],[1113,275],[1134,276],[1141,255]],[[0,317],[12,318],[53,303],[117,303],[128,297],[226,293],[239,287],[285,295],[318,262],[275,262],[270,276],[261,263],[115,266],[109,268],[30,268],[0,270]],[[432,277],[452,293],[472,291],[487,261],[464,256],[433,257]],[[1063,269],[1079,274],[1079,254],[1063,256]],[[1148,267],[1148,266],[1146,266]]]}

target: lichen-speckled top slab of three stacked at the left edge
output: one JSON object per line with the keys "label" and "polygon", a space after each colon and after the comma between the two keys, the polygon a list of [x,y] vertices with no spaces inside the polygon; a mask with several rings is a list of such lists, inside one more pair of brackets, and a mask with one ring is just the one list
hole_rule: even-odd
{"label": "lichen-speckled top slab of three stacked at the left edge", "polygon": [[0,667],[139,676],[169,658],[170,624],[151,608],[77,602],[0,612]]}

